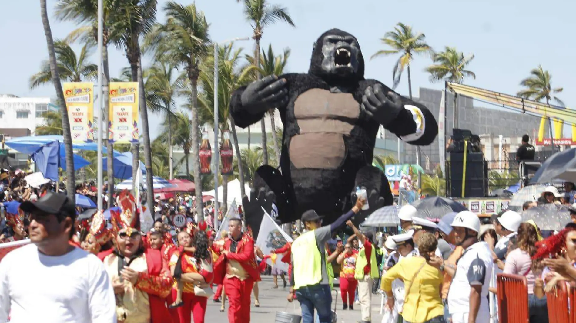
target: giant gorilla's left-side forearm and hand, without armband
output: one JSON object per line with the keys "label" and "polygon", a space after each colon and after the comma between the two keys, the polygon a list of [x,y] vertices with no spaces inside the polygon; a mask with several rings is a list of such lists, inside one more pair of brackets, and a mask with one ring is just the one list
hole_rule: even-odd
{"label": "giant gorilla's left-side forearm and hand, without armband", "polygon": [[275,107],[286,106],[288,90],[286,78],[270,75],[234,91],[230,98],[230,114],[241,128],[255,124]]}

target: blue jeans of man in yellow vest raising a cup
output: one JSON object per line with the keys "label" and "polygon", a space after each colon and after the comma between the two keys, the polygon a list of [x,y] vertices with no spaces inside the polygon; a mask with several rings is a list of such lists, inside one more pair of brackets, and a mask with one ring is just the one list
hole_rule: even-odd
{"label": "blue jeans of man in yellow vest raising a cup", "polygon": [[329,285],[313,285],[296,290],[296,298],[302,309],[302,323],[314,323],[314,309],[319,323],[332,322],[332,294]]}

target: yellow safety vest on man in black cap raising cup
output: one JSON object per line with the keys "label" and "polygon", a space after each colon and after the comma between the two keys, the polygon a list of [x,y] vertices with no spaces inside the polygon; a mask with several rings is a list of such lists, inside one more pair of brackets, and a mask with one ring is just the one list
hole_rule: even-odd
{"label": "yellow safety vest on man in black cap raising cup", "polygon": [[294,289],[322,281],[322,255],[316,245],[314,230],[301,234],[292,243]]}

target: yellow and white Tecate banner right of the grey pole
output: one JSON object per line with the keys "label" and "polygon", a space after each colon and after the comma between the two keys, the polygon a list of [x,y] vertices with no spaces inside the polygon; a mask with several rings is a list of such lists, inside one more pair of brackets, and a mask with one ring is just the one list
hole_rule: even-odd
{"label": "yellow and white Tecate banner right of the grey pole", "polygon": [[110,82],[109,89],[108,139],[138,143],[138,82]]}

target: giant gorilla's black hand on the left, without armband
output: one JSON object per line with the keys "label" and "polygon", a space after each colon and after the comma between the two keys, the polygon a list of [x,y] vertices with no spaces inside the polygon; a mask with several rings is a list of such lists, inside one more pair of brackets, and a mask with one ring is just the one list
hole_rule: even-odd
{"label": "giant gorilla's black hand on the left, without armband", "polygon": [[241,100],[242,106],[251,114],[264,113],[272,107],[284,105],[288,101],[286,79],[270,75],[256,80],[244,90]]}

